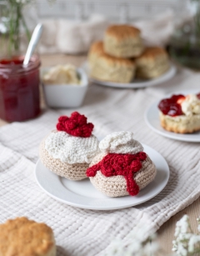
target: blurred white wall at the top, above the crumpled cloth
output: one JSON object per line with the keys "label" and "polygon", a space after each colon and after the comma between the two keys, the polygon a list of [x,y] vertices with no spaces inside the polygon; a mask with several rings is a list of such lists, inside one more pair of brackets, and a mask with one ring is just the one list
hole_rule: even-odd
{"label": "blurred white wall at the top, above the crumpled cloth", "polygon": [[132,22],[171,9],[180,17],[188,12],[189,0],[54,0],[53,8],[47,0],[37,0],[40,18],[85,19],[92,13],[102,14],[115,22]]}

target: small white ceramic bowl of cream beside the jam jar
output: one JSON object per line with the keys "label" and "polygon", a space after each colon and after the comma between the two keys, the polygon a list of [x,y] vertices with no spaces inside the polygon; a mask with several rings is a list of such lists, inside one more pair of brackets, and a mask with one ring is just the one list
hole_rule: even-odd
{"label": "small white ceramic bowl of cream beside the jam jar", "polygon": [[[47,68],[44,69],[47,71]],[[81,84],[44,84],[43,90],[48,107],[76,108],[82,105],[88,88],[87,74],[77,68]]]}

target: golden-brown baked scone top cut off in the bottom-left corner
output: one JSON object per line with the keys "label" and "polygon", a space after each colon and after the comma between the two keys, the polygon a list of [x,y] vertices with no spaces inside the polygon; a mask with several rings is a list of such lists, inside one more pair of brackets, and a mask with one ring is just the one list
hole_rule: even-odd
{"label": "golden-brown baked scone top cut off in the bottom-left corner", "polygon": [[15,218],[0,224],[1,256],[56,256],[56,244],[45,223]]}

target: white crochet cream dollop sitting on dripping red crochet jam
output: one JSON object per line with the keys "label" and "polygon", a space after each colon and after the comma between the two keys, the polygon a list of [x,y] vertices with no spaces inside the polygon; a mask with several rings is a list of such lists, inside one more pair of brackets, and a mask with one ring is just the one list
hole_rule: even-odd
{"label": "white crochet cream dollop sitting on dripping red crochet jam", "polygon": [[107,135],[99,143],[103,153],[138,153],[143,146],[133,138],[132,132],[115,132]]}

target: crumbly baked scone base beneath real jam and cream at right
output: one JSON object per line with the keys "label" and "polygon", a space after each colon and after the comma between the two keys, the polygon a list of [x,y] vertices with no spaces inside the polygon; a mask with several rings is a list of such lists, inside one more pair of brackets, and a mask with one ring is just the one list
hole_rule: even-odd
{"label": "crumbly baked scone base beneath real jam and cream at right", "polygon": [[173,133],[195,133],[200,131],[200,114],[193,116],[170,117],[159,112],[160,122],[164,129]]}

